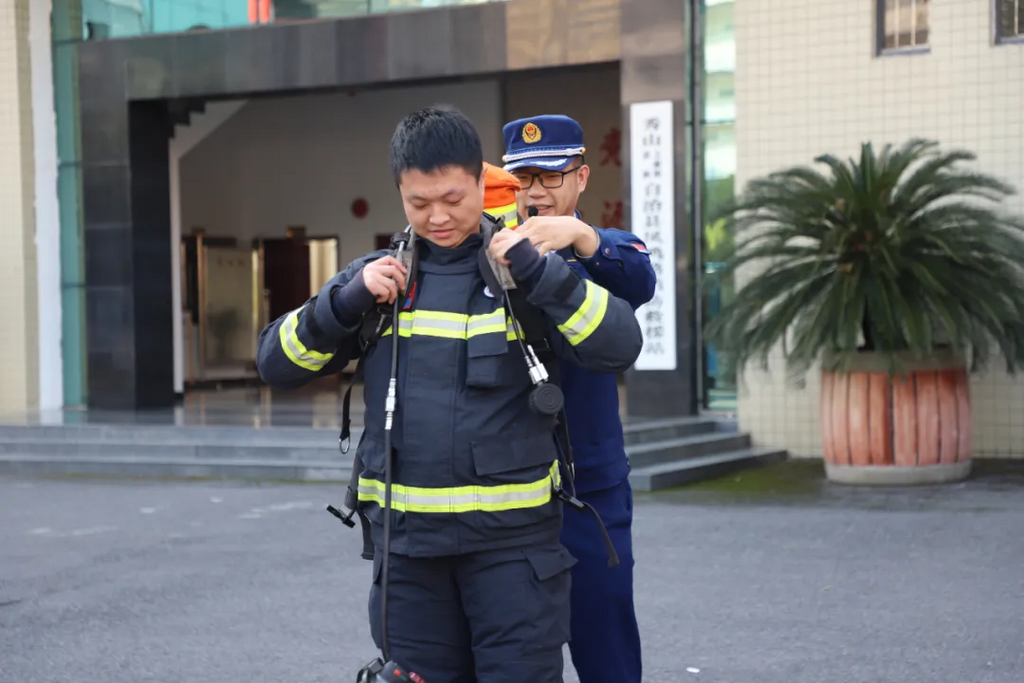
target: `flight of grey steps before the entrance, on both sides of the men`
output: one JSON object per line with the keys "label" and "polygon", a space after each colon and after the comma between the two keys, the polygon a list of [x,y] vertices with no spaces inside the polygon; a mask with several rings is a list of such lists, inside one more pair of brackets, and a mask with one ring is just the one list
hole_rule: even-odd
{"label": "flight of grey steps before the entrance, on both sides of the men", "polygon": [[[736,454],[755,453],[734,422],[715,418],[634,422],[624,431],[640,490],[712,476],[752,457]],[[0,472],[347,481],[360,435],[353,428],[349,451],[341,454],[334,429],[0,425]]]}

